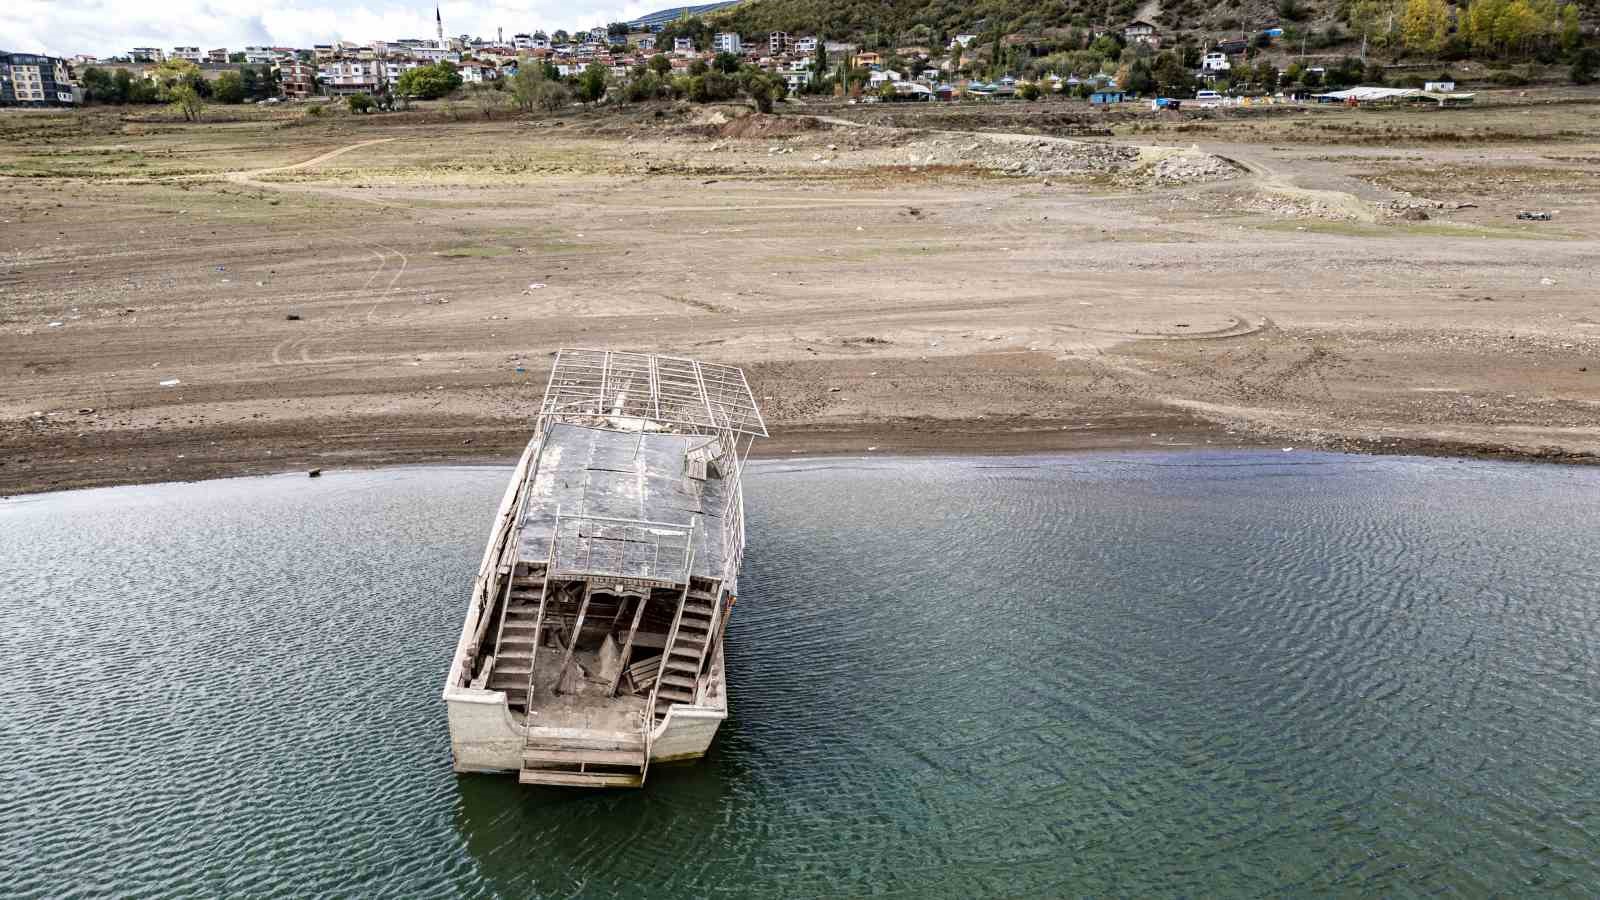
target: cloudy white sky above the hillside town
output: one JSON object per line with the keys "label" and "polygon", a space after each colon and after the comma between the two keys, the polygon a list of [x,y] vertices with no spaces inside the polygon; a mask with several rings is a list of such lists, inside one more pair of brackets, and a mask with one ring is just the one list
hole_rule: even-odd
{"label": "cloudy white sky above the hillside town", "polygon": [[[110,56],[130,46],[310,46],[434,37],[434,3],[365,0],[0,0],[0,51]],[[440,3],[446,35],[603,26],[683,0],[482,0]],[[693,2],[693,0],[691,0]]]}

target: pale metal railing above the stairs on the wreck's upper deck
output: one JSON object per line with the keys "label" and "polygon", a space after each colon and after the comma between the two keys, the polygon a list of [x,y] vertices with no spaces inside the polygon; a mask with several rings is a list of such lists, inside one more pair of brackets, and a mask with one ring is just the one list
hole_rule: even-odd
{"label": "pale metal railing above the stairs on the wreck's upper deck", "polygon": [[558,516],[550,570],[558,578],[614,577],[686,583],[694,524]]}

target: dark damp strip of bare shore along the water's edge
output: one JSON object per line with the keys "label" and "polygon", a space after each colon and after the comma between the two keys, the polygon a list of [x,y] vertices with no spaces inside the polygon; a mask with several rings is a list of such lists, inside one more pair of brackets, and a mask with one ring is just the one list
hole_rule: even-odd
{"label": "dark damp strip of bare shore along the water's edge", "polygon": [[[1134,421],[1128,421],[1128,418]],[[1155,431],[1152,431],[1155,429]],[[310,431],[310,429],[307,429]],[[478,439],[458,439],[472,432]],[[518,437],[520,436],[520,437]],[[512,464],[526,445],[530,431],[498,428],[485,431],[458,423],[446,429],[413,428],[394,445],[371,448],[362,444],[318,444],[301,434],[219,434],[114,432],[94,452],[96,463],[58,456],[0,468],[0,500],[24,495],[130,487],[168,482],[203,482],[227,477],[277,476],[310,469],[374,469],[414,464]],[[1526,450],[1507,445],[1418,439],[1418,437],[1320,437],[1307,440],[1262,429],[1226,428],[1186,413],[1142,412],[1117,424],[1077,426],[1064,421],[1021,420],[898,420],[802,424],[773,429],[758,440],[752,460],[842,458],[842,456],[1013,456],[1035,453],[1090,453],[1107,450],[1267,450],[1293,447],[1366,456],[1440,456],[1520,463],[1600,464],[1600,456],[1558,447]],[[45,447],[34,450],[43,452]],[[67,450],[72,453],[74,450]],[[80,447],[77,452],[90,452]],[[106,466],[107,456],[118,464]]]}

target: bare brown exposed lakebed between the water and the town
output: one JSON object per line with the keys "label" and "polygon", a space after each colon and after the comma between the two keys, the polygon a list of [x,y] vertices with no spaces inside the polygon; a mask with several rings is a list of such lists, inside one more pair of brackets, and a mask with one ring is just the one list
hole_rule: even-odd
{"label": "bare brown exposed lakebed between the water and the town", "polygon": [[[1536,99],[0,115],[0,493],[506,458],[562,346],[747,367],[770,455],[1594,461],[1600,98]],[[1005,176],[973,128],[1141,162]],[[1230,178],[1150,176],[1179,147]]]}

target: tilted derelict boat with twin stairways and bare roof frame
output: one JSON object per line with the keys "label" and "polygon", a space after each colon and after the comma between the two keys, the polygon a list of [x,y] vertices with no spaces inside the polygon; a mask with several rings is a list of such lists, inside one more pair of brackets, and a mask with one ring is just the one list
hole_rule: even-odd
{"label": "tilted derelict boat with twin stairways and bare roof frame", "polygon": [[640,786],[704,756],[765,436],[739,368],[557,354],[445,684],[458,772]]}

